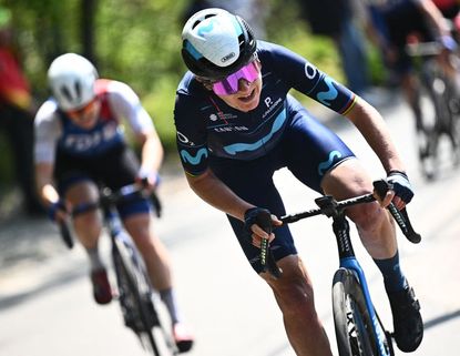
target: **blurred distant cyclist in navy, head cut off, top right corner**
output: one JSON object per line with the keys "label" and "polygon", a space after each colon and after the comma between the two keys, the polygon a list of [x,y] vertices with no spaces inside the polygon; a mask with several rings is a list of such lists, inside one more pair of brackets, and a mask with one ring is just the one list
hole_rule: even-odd
{"label": "blurred distant cyclist in navy, head cut off, top right corner", "polygon": [[[452,1],[431,0],[364,0],[367,2],[379,32],[379,47],[384,50],[386,62],[397,77],[407,102],[416,118],[417,130],[420,129],[422,112],[418,94],[418,80],[413,72],[412,59],[406,51],[408,39],[418,41],[439,41],[444,50],[437,55],[438,62],[452,82],[452,89],[460,93],[460,74],[458,59],[451,55],[458,44],[451,37],[451,28],[446,16],[454,17]],[[450,2],[450,4],[448,3]],[[438,8],[439,7],[439,8]],[[442,9],[443,13],[440,11]],[[420,151],[423,155],[423,149]]]}

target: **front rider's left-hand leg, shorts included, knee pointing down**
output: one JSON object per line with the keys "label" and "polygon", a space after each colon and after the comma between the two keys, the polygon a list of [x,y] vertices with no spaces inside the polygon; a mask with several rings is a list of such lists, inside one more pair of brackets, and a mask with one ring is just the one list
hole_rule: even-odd
{"label": "front rider's left-hand leg, shorts included, knee pointing down", "polygon": [[[238,196],[280,216],[285,213],[283,201],[272,180],[282,152],[275,148],[266,156],[249,162],[211,159],[211,167]],[[329,342],[315,309],[311,281],[297,255],[288,226],[277,227],[270,248],[283,276],[273,279],[262,273],[260,250],[249,242],[243,222],[228,216],[235,235],[252,267],[272,287],[283,313],[286,334],[297,355],[331,356]]]}

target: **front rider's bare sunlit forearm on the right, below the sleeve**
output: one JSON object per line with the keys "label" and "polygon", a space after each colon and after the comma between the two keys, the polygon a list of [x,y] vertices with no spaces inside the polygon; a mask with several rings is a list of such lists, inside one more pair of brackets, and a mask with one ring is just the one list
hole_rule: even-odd
{"label": "front rider's bare sunlit forearm on the right, below the sleeve", "polygon": [[391,140],[388,126],[374,106],[365,100],[358,99],[346,116],[366,139],[387,173],[393,170],[406,171],[396,145]]}

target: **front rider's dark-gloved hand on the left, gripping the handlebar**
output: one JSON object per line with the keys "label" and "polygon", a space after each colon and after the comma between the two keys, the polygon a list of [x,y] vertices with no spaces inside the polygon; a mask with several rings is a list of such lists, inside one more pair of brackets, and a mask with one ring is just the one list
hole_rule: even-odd
{"label": "front rider's dark-gloved hand on the left, gripping the handlebar", "polygon": [[244,214],[245,228],[251,236],[251,243],[256,247],[260,247],[262,238],[268,238],[268,242],[272,242],[275,238],[272,226],[282,224],[283,222],[266,208],[251,207]]}

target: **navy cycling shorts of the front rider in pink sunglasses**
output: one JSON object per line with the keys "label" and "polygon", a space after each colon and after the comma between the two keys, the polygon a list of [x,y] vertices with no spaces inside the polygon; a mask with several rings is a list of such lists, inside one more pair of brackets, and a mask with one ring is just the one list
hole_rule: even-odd
{"label": "navy cycling shorts of the front rider in pink sunglasses", "polygon": [[[321,193],[324,175],[345,160],[354,157],[348,146],[306,110],[294,112],[277,145],[265,156],[239,161],[211,156],[209,166],[235,194],[272,214],[286,214],[282,197],[273,182],[275,171],[287,167],[301,183]],[[227,216],[252,267],[262,272],[259,248],[249,243],[244,223]],[[270,245],[276,261],[297,254],[289,227],[275,228]]]}

